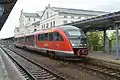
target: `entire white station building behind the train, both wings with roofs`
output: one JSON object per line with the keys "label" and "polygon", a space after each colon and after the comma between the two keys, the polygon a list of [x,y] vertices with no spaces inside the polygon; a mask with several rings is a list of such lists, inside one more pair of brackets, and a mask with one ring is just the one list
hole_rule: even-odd
{"label": "entire white station building behind the train, both wings with roofs", "polygon": [[15,28],[14,32],[15,35],[33,33],[107,13],[103,11],[51,7],[48,4],[44,11],[36,13],[25,13],[22,10],[19,18],[19,28]]}

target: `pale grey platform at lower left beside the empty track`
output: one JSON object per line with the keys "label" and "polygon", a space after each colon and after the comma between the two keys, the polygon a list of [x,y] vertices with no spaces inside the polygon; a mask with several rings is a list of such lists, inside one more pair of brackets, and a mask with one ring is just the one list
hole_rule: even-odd
{"label": "pale grey platform at lower left beside the empty track", "polygon": [[0,80],[25,80],[0,45]]}

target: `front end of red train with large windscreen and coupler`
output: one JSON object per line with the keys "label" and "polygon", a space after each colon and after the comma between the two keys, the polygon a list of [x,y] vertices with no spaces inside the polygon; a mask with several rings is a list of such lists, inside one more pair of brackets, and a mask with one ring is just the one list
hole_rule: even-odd
{"label": "front end of red train with large windscreen and coupler", "polygon": [[74,55],[86,57],[88,55],[87,39],[84,32],[78,28],[65,31],[71,43]]}

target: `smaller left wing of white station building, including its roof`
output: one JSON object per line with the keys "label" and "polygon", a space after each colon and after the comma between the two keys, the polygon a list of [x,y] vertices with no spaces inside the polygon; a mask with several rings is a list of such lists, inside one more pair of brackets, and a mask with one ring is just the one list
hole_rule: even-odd
{"label": "smaller left wing of white station building, including its roof", "polygon": [[19,26],[15,27],[14,35],[23,35],[36,31],[40,24],[40,12],[27,13],[21,10]]}

